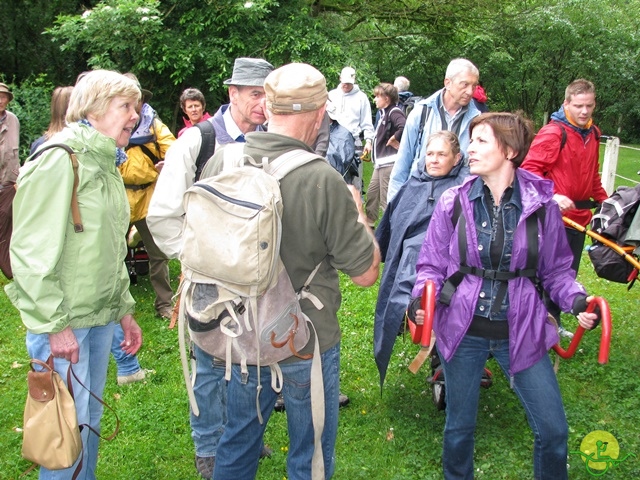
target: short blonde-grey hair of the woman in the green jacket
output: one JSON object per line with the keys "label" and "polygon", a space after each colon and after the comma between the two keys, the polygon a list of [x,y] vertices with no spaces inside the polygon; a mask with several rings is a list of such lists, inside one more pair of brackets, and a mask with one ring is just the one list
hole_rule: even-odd
{"label": "short blonde-grey hair of the woman in the green jacket", "polygon": [[86,119],[89,115],[102,117],[115,97],[131,98],[137,103],[142,92],[134,80],[118,72],[93,70],[82,74],[71,92],[67,123]]}

